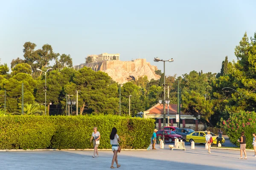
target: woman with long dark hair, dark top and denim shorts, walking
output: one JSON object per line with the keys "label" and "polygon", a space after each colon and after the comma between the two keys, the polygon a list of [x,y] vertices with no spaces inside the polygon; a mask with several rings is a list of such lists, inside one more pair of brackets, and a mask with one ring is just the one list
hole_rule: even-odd
{"label": "woman with long dark hair, dark top and denim shorts, walking", "polygon": [[112,163],[111,163],[111,167],[110,168],[115,168],[113,167],[115,161],[116,161],[116,167],[121,167],[121,165],[118,164],[118,160],[117,160],[117,151],[118,151],[118,142],[120,142],[119,136],[116,130],[116,127],[112,128],[111,134],[110,134],[110,144],[112,146],[112,151],[114,153],[113,155],[113,159],[112,159]]}

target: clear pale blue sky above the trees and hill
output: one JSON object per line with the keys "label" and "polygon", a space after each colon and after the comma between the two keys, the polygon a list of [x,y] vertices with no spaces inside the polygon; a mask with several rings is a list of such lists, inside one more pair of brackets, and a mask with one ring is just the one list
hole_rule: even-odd
{"label": "clear pale blue sky above the trees and hill", "polygon": [[166,75],[217,73],[247,31],[256,31],[255,0],[0,0],[0,58],[10,66],[23,44],[70,54],[119,53],[122,61],[173,58]]}

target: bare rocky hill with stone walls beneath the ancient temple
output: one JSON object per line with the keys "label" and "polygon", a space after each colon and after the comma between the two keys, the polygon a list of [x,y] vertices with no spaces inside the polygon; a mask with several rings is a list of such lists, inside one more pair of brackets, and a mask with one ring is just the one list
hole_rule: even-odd
{"label": "bare rocky hill with stone walls beneath the ancient temple", "polygon": [[83,67],[90,67],[94,71],[104,71],[114,81],[123,84],[128,82],[133,77],[147,76],[148,80],[160,79],[160,76],[155,74],[157,66],[151,65],[146,62],[146,59],[135,59],[134,61],[120,61],[120,60],[104,60],[92,62],[87,64],[75,65],[74,68],[79,70]]}

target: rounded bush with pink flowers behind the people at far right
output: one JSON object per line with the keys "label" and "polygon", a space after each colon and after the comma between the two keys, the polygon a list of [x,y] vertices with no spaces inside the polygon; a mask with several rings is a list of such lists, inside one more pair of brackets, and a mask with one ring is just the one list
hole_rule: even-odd
{"label": "rounded bush with pink flowers behind the people at far right", "polygon": [[244,131],[246,137],[246,147],[252,148],[253,136],[256,132],[256,113],[239,111],[237,113],[231,113],[230,118],[227,120],[221,120],[222,125],[230,138],[230,142],[240,145],[237,139],[240,139],[241,132]]}

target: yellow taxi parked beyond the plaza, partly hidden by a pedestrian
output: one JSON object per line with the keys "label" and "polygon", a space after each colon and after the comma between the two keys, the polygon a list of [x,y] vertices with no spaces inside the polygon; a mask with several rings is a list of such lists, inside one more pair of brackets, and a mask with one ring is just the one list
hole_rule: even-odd
{"label": "yellow taxi parked beyond the plaza, partly hidden by a pedestrian", "polygon": [[[192,142],[194,141],[195,143],[205,143],[205,136],[206,136],[207,132],[206,131],[198,131],[198,132],[193,132],[190,133],[186,136],[186,142]],[[217,144],[217,135],[211,133],[212,135],[212,140],[213,140],[213,144]],[[222,137],[221,140],[221,144],[223,144],[225,142],[224,137]]]}

